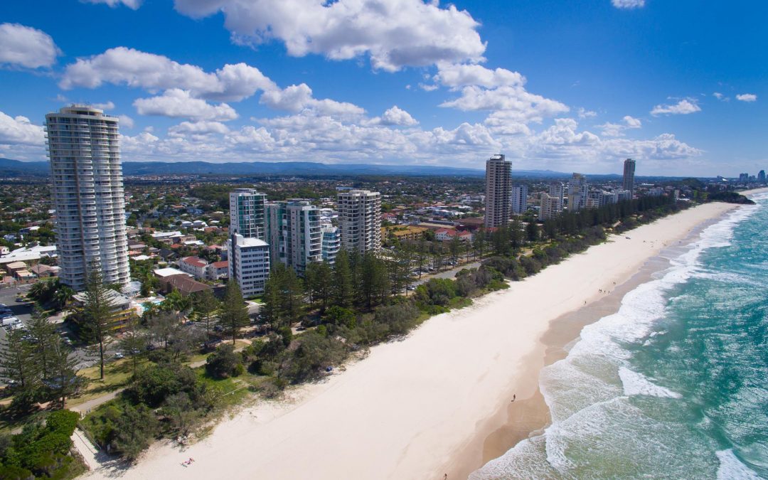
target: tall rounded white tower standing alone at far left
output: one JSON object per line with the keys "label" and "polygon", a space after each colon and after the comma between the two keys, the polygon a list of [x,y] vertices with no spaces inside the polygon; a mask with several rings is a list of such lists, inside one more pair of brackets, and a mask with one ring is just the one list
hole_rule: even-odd
{"label": "tall rounded white tower standing alone at far left", "polygon": [[45,115],[62,283],[84,290],[91,268],[127,285],[128,241],[118,118],[72,105]]}

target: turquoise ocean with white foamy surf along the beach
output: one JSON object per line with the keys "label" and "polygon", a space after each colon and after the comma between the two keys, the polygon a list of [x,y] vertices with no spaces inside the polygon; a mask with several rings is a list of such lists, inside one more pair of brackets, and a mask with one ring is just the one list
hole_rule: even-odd
{"label": "turquoise ocean with white foamy surf along the beach", "polygon": [[542,369],[551,425],[470,478],[768,478],[768,194],[753,200]]}

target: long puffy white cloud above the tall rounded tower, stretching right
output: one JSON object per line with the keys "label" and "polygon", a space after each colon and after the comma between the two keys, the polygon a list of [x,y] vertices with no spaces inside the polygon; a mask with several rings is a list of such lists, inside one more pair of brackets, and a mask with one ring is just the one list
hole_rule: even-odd
{"label": "long puffy white cloud above the tall rounded tower, stretching right", "polygon": [[180,88],[190,91],[195,98],[218,101],[239,101],[259,90],[276,88],[258,68],[243,63],[206,72],[197,65],[180,64],[163,55],[125,47],[78,58],[67,65],[59,86],[97,88],[104,83],[125,84],[153,93]]}

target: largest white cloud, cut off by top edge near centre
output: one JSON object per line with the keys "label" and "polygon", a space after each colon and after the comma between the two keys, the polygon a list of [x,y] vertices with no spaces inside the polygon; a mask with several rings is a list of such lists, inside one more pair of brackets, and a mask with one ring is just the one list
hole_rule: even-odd
{"label": "largest white cloud, cut off by top edge near centre", "polygon": [[233,41],[283,41],[289,55],[346,60],[369,55],[373,68],[397,71],[439,61],[482,61],[479,24],[466,11],[423,0],[175,0],[202,18],[223,12]]}

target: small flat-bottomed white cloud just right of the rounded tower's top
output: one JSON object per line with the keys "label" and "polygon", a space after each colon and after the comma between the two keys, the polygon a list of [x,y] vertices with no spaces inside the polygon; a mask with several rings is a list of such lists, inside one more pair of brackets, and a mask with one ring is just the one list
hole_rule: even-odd
{"label": "small flat-bottomed white cloud just right of the rounded tower's top", "polygon": [[237,118],[237,112],[229,105],[209,104],[199,98],[192,98],[189,91],[180,88],[170,88],[157,97],[137,98],[134,107],[142,115],[216,121]]}

